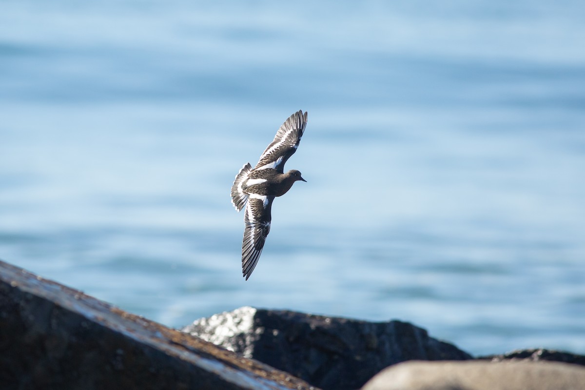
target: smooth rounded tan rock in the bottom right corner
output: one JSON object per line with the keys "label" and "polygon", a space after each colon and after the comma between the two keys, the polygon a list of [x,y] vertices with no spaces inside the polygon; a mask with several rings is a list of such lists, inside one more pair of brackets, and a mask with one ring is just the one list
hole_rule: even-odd
{"label": "smooth rounded tan rock in the bottom right corner", "polygon": [[556,362],[409,361],[377,374],[362,390],[583,390],[585,368]]}

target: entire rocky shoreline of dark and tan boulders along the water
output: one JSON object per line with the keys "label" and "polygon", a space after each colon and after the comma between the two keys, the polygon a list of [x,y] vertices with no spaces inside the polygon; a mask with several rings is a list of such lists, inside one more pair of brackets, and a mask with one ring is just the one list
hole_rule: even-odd
{"label": "entire rocky shoreline of dark and tan boulders along the water", "polygon": [[287,310],[178,331],[0,261],[2,389],[579,390],[584,365],[542,349],[473,357],[407,322]]}

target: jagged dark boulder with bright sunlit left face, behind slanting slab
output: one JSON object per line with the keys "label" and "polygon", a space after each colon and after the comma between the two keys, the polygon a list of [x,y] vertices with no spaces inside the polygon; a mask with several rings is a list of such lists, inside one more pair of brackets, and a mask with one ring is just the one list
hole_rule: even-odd
{"label": "jagged dark boulder with bright sunlit left face, behind slanting slab", "polygon": [[250,307],[199,319],[183,329],[323,389],[356,389],[405,360],[466,360],[452,344],[400,321],[366,322]]}

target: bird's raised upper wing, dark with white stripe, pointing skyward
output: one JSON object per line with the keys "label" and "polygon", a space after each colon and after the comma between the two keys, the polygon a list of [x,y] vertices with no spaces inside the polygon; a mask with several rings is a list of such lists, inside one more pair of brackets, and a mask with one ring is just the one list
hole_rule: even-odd
{"label": "bird's raised upper wing, dark with white stripe, pointing skyward", "polygon": [[280,126],[274,140],[264,150],[254,169],[275,169],[284,172],[284,163],[297,150],[302,133],[307,126],[307,113],[295,112]]}

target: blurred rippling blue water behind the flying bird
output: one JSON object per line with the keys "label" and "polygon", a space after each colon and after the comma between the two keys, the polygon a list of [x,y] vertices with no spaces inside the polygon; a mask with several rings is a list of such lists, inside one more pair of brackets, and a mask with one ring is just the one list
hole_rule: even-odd
{"label": "blurred rippling blue water behind the flying bird", "polygon": [[[585,353],[585,5],[0,1],[0,258],[182,326],[243,305]],[[232,180],[309,112],[249,281]]]}

